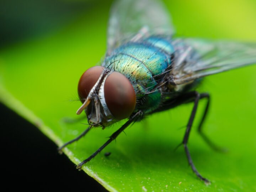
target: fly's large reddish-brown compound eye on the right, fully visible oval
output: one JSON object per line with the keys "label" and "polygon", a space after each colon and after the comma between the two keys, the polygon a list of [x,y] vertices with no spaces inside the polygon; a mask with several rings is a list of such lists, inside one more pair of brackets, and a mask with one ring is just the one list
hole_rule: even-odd
{"label": "fly's large reddish-brown compound eye on the right, fully visible oval", "polygon": [[136,95],[130,81],[121,73],[111,73],[104,85],[104,96],[108,109],[114,118],[129,117],[136,104]]}

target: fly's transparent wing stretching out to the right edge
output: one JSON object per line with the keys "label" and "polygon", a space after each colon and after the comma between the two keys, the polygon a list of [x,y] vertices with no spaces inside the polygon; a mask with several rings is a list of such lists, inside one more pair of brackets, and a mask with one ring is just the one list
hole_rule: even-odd
{"label": "fly's transparent wing stretching out to the right edge", "polygon": [[172,69],[177,85],[256,63],[256,43],[175,39]]}

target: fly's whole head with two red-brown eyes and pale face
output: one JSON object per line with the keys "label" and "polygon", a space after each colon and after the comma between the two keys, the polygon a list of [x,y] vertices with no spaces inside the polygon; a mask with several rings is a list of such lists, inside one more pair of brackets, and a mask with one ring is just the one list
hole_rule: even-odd
{"label": "fly's whole head with two red-brown eyes and pale face", "polygon": [[128,118],[134,111],[136,95],[130,81],[121,73],[102,66],[82,74],[78,95],[83,103],[76,112],[85,110],[89,124],[106,127]]}

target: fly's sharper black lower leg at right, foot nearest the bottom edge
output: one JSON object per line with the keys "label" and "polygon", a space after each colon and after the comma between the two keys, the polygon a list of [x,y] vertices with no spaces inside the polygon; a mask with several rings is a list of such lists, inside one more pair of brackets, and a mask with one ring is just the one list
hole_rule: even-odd
{"label": "fly's sharper black lower leg at right, foot nearest the bottom edge", "polygon": [[188,150],[188,146],[187,146],[187,142],[188,142],[188,137],[189,137],[189,134],[190,134],[190,130],[191,130],[191,127],[192,127],[192,123],[194,121],[194,117],[196,115],[196,111],[197,111],[197,106],[198,106],[198,102],[201,98],[204,98],[204,97],[207,97],[208,94],[206,93],[203,93],[203,94],[199,94],[198,92],[194,92],[194,107],[193,107],[193,110],[191,112],[191,115],[190,115],[190,119],[188,120],[188,124],[187,124],[187,129],[186,129],[186,133],[184,135],[184,138],[183,138],[183,141],[182,141],[182,144],[185,148],[185,152],[186,152],[186,155],[187,155],[187,159],[188,159],[188,163],[189,165],[191,166],[193,172],[197,175],[197,177],[199,177],[201,180],[203,180],[205,183],[210,183],[209,180],[207,178],[204,178],[202,177],[201,174],[199,174],[199,172],[197,171],[196,167],[194,166],[194,163],[192,161],[192,158],[191,158],[191,155],[190,155],[190,152]]}

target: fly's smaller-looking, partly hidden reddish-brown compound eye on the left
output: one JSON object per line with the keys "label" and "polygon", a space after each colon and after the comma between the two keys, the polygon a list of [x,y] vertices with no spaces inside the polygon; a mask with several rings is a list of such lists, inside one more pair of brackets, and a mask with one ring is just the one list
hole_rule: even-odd
{"label": "fly's smaller-looking, partly hidden reddish-brown compound eye on the left", "polygon": [[78,95],[82,103],[84,103],[92,87],[100,78],[103,69],[102,66],[94,66],[82,74],[78,83]]}

